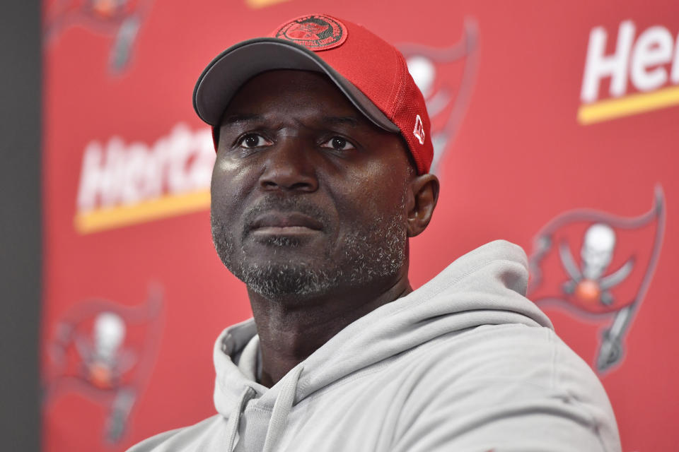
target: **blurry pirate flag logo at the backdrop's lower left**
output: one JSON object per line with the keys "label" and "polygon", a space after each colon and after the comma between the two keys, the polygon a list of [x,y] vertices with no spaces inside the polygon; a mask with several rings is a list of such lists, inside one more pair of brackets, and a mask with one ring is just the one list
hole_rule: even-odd
{"label": "blurry pirate flag logo at the backdrop's lower left", "polygon": [[151,376],[162,305],[153,287],[138,306],[90,299],[67,311],[47,345],[45,408],[66,393],[79,393],[105,408],[105,441],[118,443]]}

